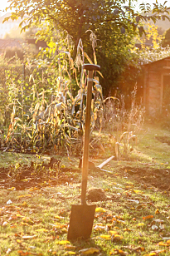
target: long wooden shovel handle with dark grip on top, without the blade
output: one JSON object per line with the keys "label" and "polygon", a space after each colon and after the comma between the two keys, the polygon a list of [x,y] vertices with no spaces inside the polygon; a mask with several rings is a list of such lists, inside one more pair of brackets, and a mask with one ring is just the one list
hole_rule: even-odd
{"label": "long wooden shovel handle with dark grip on top, without the blade", "polygon": [[86,115],[85,115],[85,138],[82,164],[82,183],[81,183],[81,204],[86,204],[85,194],[87,189],[87,177],[89,169],[89,145],[90,145],[90,121],[91,121],[91,98],[93,86],[93,71],[100,70],[100,66],[85,64],[84,69],[89,71],[89,81],[87,86]]}

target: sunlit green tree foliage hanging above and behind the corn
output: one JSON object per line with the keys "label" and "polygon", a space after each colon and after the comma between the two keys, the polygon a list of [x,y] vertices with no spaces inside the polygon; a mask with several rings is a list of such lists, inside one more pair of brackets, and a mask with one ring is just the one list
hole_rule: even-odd
{"label": "sunlit green tree foliage hanging above and behind the corn", "polygon": [[[102,86],[104,94],[109,94],[110,88],[119,88],[124,71],[130,71],[136,62],[131,62],[134,54],[129,52],[129,46],[136,33],[140,36],[144,33],[143,23],[152,20],[156,22],[160,18],[168,18],[169,7],[167,1],[159,4],[157,1],[151,5],[141,4],[141,13],[124,0],[9,0],[12,10],[11,18],[22,17],[20,26],[22,30],[29,27],[41,27],[36,35],[46,42],[54,45],[54,52],[57,51],[59,34],[67,37],[75,47],[73,58],[76,56],[77,46],[80,38],[83,42],[85,52],[90,57],[95,56],[91,51],[89,31],[95,32],[97,41],[94,38],[92,43],[95,49],[98,64],[101,66]],[[148,14],[149,13],[149,14]],[[5,20],[7,20],[7,17]],[[74,49],[74,50],[73,50]],[[134,87],[134,86],[133,86]]]}

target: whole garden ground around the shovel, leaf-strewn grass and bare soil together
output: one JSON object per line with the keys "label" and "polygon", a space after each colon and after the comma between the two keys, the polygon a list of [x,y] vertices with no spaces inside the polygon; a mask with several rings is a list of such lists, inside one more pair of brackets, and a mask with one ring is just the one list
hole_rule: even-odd
{"label": "whole garden ground around the shovel, leaf-strewn grass and bare soil together", "polygon": [[[95,166],[113,155],[107,135]],[[67,241],[80,204],[79,159],[0,152],[1,255],[170,255],[170,131],[143,126],[129,160],[90,170],[91,239]]]}

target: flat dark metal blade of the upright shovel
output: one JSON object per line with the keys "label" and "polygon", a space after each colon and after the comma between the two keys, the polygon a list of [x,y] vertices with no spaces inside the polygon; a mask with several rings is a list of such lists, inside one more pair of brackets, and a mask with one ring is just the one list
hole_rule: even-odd
{"label": "flat dark metal blade of the upright shovel", "polygon": [[95,218],[95,204],[72,205],[67,239],[89,239]]}

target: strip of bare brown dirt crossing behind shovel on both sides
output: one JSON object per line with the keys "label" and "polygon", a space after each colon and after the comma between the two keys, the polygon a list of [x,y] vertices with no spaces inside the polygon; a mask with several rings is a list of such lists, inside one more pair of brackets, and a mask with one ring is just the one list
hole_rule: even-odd
{"label": "strip of bare brown dirt crossing behind shovel on both sides", "polygon": [[[81,182],[81,170],[79,168],[67,168],[60,166],[60,160],[51,158],[48,165],[21,165],[15,167],[0,168],[0,187],[9,189],[14,187],[16,190],[25,190],[31,187],[41,188],[53,185],[70,185]],[[91,171],[90,171],[91,172]],[[118,170],[116,170],[118,172]],[[106,173],[110,177],[111,173]],[[93,170],[93,175],[105,175],[102,170]],[[114,175],[114,173],[113,173]],[[149,168],[126,168],[119,169],[121,177],[135,180],[140,185],[152,186],[158,190],[170,190],[170,173],[166,169]],[[115,176],[114,176],[115,177]]]}

